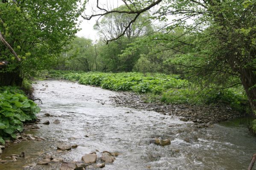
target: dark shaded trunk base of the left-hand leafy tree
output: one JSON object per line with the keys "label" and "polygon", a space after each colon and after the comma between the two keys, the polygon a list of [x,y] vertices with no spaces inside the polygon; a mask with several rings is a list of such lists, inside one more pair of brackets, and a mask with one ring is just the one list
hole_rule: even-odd
{"label": "dark shaded trunk base of the left-hand leafy tree", "polygon": [[22,85],[22,78],[20,77],[19,72],[6,72],[0,73],[0,86],[7,85]]}

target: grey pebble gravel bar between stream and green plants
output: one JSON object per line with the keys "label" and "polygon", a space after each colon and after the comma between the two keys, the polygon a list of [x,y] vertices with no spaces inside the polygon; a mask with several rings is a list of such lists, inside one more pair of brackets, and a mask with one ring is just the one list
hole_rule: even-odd
{"label": "grey pebble gravel bar between stream and green plants", "polygon": [[162,102],[147,103],[146,95],[138,95],[131,92],[120,92],[113,96],[112,101],[117,106],[125,106],[147,111],[156,111],[164,115],[180,116],[183,121],[192,121],[196,124],[213,124],[228,119],[245,116],[245,114],[233,110],[227,105],[166,105]]}

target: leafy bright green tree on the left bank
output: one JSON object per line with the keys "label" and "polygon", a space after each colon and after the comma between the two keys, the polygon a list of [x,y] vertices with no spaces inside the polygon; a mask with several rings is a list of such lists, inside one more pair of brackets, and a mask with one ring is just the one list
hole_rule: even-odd
{"label": "leafy bright green tree on the left bank", "polygon": [[24,77],[50,68],[77,32],[79,0],[2,0],[0,31],[21,61],[0,42],[0,85],[21,85]]}

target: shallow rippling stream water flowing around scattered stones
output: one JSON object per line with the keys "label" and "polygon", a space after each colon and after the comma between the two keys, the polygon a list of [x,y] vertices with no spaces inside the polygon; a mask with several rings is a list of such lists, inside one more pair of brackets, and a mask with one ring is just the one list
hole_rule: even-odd
{"label": "shallow rippling stream water flowing around scattered stones", "polygon": [[[26,133],[46,140],[12,144],[2,158],[21,152],[26,157],[0,164],[0,170],[22,170],[46,154],[67,162],[79,161],[95,150],[99,150],[98,157],[103,150],[120,154],[105,170],[245,170],[256,153],[256,137],[239,119],[198,129],[193,122],[182,122],[175,116],[115,107],[109,99],[115,95],[120,94],[71,82],[39,81],[35,96],[43,105],[38,118],[41,123],[49,120],[50,125],[39,124],[39,130]],[[61,123],[52,123],[56,119]],[[171,145],[149,144],[156,137],[171,139]],[[79,146],[58,153],[58,144]],[[36,165],[30,170],[59,170],[60,165]]]}

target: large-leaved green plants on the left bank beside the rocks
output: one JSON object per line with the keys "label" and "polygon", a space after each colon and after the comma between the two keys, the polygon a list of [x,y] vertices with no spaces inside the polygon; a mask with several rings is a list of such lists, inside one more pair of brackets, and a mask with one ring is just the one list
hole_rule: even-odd
{"label": "large-leaved green plants on the left bank beside the rocks", "polygon": [[40,108],[15,87],[0,87],[0,143],[15,138],[23,123],[36,119]]}

